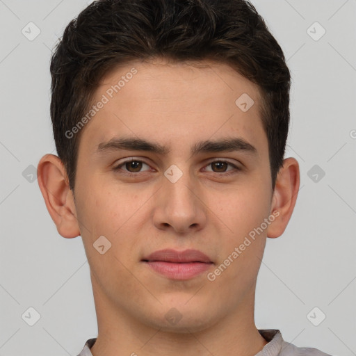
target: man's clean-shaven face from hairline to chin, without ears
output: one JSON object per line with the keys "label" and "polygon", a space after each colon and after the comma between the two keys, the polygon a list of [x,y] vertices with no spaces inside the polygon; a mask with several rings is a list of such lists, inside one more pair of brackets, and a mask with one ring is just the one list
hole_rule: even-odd
{"label": "man's clean-shaven face from hairline to chin, without ears", "polygon": [[206,63],[131,63],[95,92],[74,197],[97,314],[183,332],[252,305],[273,221],[261,97]]}

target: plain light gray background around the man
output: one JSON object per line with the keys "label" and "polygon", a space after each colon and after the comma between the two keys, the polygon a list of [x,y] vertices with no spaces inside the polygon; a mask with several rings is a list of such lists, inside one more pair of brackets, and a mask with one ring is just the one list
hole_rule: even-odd
{"label": "plain light gray background around the man", "polygon": [[[356,0],[252,3],[292,72],[286,156],[298,159],[301,175],[286,232],[267,241],[257,327],[280,329],[297,346],[356,355]],[[81,238],[58,234],[33,176],[40,157],[55,153],[51,48],[87,5],[0,0],[0,356],[77,355],[97,336]],[[34,40],[22,34],[35,34],[29,22],[40,29]],[[325,29],[323,37],[314,22]],[[40,314],[33,326],[34,312],[22,318],[29,307]],[[325,320],[313,325],[321,313]]]}

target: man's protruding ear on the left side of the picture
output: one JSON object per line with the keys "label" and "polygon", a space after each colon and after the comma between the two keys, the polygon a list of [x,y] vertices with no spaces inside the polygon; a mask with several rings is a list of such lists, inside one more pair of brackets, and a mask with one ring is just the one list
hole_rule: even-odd
{"label": "man's protruding ear on the left side of the picture", "polygon": [[80,235],[74,196],[65,167],[57,156],[46,154],[38,163],[38,185],[58,233],[66,238]]}

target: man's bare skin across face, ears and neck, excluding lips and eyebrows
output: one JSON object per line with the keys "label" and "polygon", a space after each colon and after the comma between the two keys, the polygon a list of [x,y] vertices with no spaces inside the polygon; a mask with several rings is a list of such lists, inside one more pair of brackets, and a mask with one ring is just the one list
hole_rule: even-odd
{"label": "man's bare skin across face, ears and neck, excluding lips and eyebrows", "polygon": [[[47,154],[38,165],[58,233],[83,238],[99,330],[94,356],[255,355],[267,343],[254,323],[257,273],[266,238],[280,236],[291,218],[298,162],[284,159],[273,191],[259,88],[223,63],[192,64],[137,61],[105,76],[93,103],[132,67],[138,71],[83,128],[74,192],[57,156]],[[243,93],[254,99],[245,113],[235,104]],[[95,153],[115,136],[154,140],[170,153]],[[234,137],[257,154],[191,156],[198,141]],[[113,170],[131,157],[141,168]],[[241,170],[212,165],[217,159]],[[173,164],[183,173],[175,183],[164,175]],[[196,249],[213,261],[211,272],[273,211],[277,218],[213,282],[207,273],[170,280],[141,261],[164,248]],[[92,244],[103,235],[111,248],[100,254]],[[165,318],[172,308],[181,316],[174,324]]]}

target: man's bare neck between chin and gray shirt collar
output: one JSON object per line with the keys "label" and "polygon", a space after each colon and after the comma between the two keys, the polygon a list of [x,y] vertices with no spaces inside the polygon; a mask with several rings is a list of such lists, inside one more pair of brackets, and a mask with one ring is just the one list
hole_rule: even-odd
{"label": "man's bare neck between chin and gray shirt collar", "polygon": [[254,325],[254,290],[218,322],[179,330],[143,323],[93,290],[98,321],[93,356],[254,356],[268,343]]}

